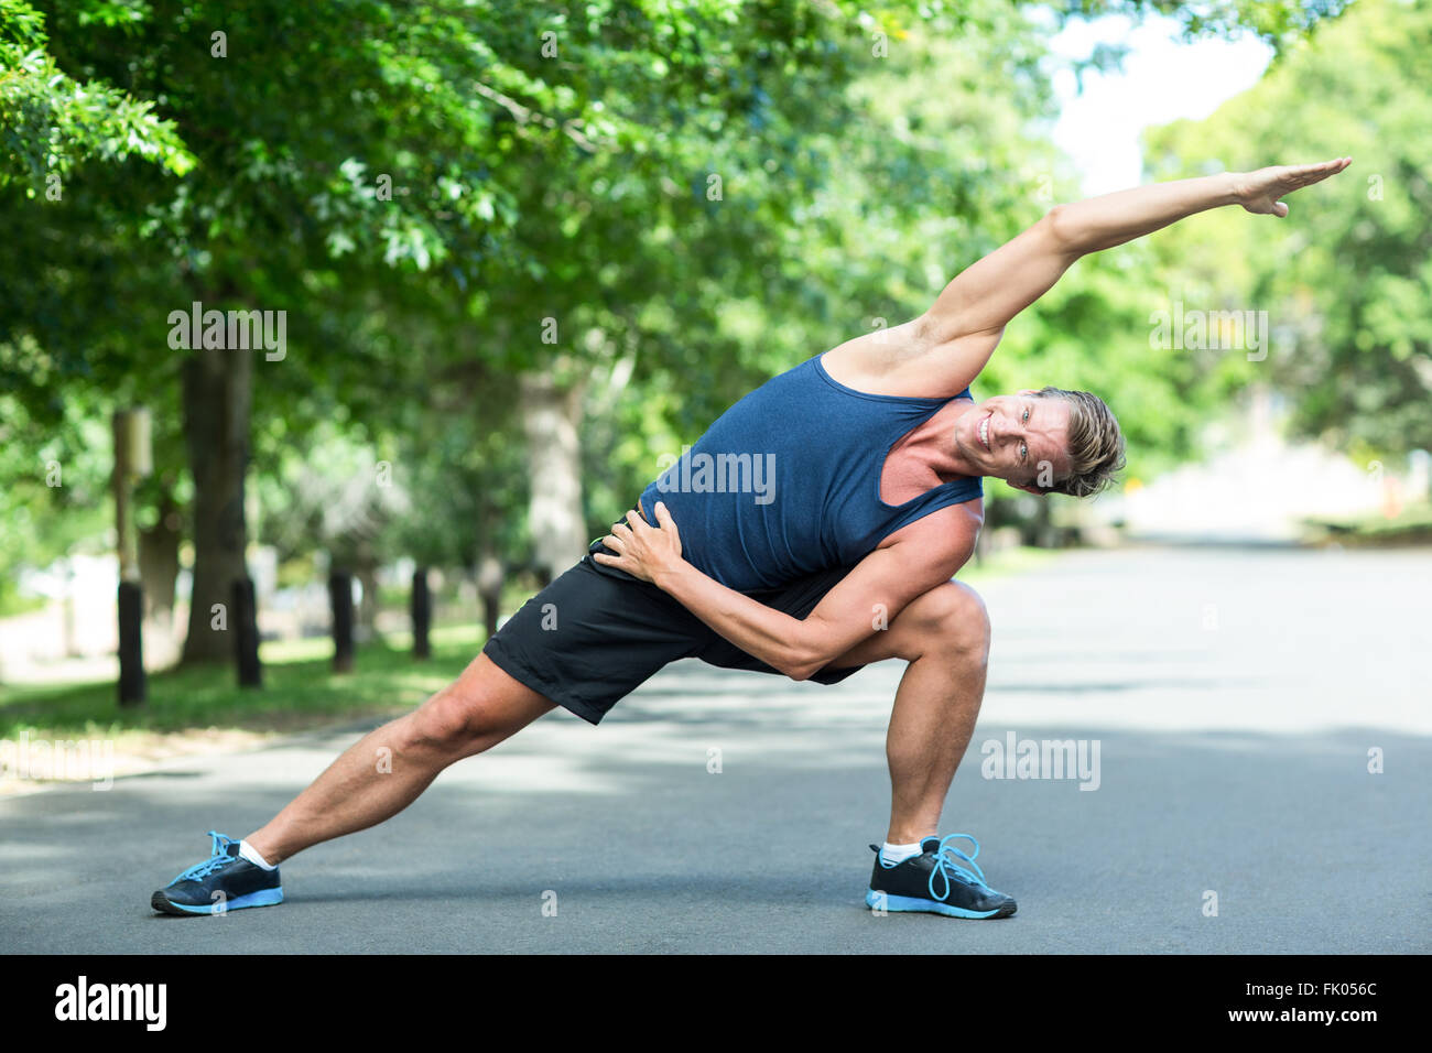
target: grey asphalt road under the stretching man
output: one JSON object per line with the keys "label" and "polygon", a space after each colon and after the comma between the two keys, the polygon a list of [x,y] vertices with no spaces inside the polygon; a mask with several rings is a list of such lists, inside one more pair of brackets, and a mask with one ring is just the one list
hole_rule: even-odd
{"label": "grey asphalt road under the stretching man", "polygon": [[[276,908],[147,904],[367,725],[0,798],[0,950],[1432,950],[1432,553],[1081,552],[981,592],[990,691],[941,832],[981,840],[1014,918],[863,907],[902,666],[822,688],[684,662],[284,864]],[[985,778],[1011,735],[1090,768]]]}

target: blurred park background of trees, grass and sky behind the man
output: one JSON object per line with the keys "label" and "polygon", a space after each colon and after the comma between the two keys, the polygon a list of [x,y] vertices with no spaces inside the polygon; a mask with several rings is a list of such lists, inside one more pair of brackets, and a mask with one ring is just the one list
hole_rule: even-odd
{"label": "blurred park background of trees, grass and sky behind the man", "polygon": [[0,0],[0,734],[411,705],[766,378],[1270,163],[1355,159],[1010,325],[977,398],[1128,470],[991,480],[971,570],[1432,542],[1426,3]]}

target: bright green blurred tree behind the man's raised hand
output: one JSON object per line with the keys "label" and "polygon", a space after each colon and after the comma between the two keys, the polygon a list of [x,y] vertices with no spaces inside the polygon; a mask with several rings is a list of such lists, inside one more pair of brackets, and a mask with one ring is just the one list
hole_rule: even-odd
{"label": "bright green blurred tree behind the man's raised hand", "polygon": [[1160,248],[1200,307],[1266,311],[1295,424],[1359,456],[1432,448],[1432,9],[1362,0],[1204,122],[1148,138],[1161,178],[1352,156],[1282,221],[1229,209]]}

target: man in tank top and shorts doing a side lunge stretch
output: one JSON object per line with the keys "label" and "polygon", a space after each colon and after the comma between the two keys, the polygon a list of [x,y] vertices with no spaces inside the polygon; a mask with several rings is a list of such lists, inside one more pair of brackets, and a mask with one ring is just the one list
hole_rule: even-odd
{"label": "man in tank top and shorts doing a side lunge stretch", "polygon": [[[1014,900],[990,888],[974,862],[978,842],[938,835],[990,645],[979,597],[951,579],[982,523],[982,476],[1030,493],[1088,496],[1123,466],[1123,437],[1094,395],[1044,388],[977,404],[969,384],[1004,327],[1080,256],[1221,205],[1286,216],[1280,196],[1349,163],[1223,173],[1055,206],[961,272],[919,318],[763,384],[454,683],[365,735],[243,841],[211,831],[211,858],[155,893],[153,908],[211,914],[281,903],[281,861],[390,818],[450,764],[557,705],[600,722],[679,658],[819,683],[898,658],[908,668],[886,738],[891,819],[866,903],[964,918],[1014,914]],[[378,771],[382,749],[391,771]],[[974,851],[951,844],[958,840]]]}

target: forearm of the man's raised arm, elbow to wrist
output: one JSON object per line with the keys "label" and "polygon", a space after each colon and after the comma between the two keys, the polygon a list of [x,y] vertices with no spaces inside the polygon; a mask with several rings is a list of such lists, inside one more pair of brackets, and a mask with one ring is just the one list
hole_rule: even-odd
{"label": "forearm of the man's raised arm, elbow to wrist", "polygon": [[1236,181],[1236,173],[1224,172],[1136,186],[1131,191],[1058,205],[1050,222],[1054,236],[1068,252],[1098,252],[1158,231],[1194,212],[1239,203]]}

